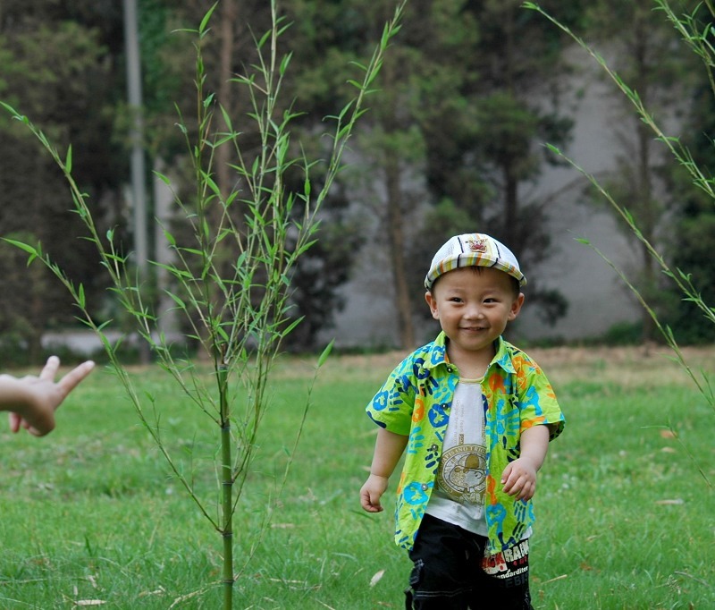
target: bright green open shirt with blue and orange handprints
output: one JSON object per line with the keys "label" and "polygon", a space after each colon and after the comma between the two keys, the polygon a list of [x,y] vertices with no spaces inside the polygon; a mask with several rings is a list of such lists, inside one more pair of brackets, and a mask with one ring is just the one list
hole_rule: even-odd
{"label": "bright green open shirt with blue and orange handprints", "polygon": [[[412,352],[391,372],[366,411],[379,426],[409,436],[395,507],[395,542],[411,549],[435,483],[450,417],[457,368],[450,364],[446,336]],[[501,472],[519,455],[526,428],[550,424],[551,440],[564,416],[542,369],[501,337],[482,382],[486,440],[485,517],[490,552],[516,545],[534,523],[531,500],[501,491]]]}

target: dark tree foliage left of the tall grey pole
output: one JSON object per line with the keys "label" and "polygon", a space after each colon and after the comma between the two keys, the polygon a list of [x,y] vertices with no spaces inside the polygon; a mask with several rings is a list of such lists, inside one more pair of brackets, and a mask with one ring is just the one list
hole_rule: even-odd
{"label": "dark tree foliage left of the tall grey pole", "polygon": [[[114,224],[122,157],[108,135],[116,98],[116,55],[110,51],[117,28],[111,4],[100,10],[101,4],[5,2],[0,10],[0,98],[31,116],[57,148],[72,143],[78,180],[97,202],[97,216]],[[2,234],[21,232],[40,241],[71,277],[86,285],[88,295],[97,297],[100,270],[80,239],[82,225],[69,211],[62,176],[20,124],[4,115],[0,130]],[[73,311],[60,286],[18,264],[9,249],[3,244],[0,254],[4,347],[24,345],[37,360],[43,331],[71,320]]]}

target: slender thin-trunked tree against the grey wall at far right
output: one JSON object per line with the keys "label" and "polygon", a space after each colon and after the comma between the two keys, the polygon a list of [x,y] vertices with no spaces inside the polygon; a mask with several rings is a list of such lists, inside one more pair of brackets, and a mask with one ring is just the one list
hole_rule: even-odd
{"label": "slender thin-trunked tree against the grey wall at far right", "polygon": [[[698,3],[684,2],[681,7],[686,9],[688,4],[693,10]],[[594,2],[585,13],[585,30],[591,38],[608,44],[611,68],[660,123],[676,124],[687,114],[697,83],[698,58],[682,44],[665,13],[655,10],[652,0]],[[619,147],[614,150],[616,168],[604,183],[616,200],[625,202],[644,238],[665,249],[672,229],[671,212],[679,206],[669,200],[667,189],[671,158],[627,97],[617,96],[613,101],[612,130]],[[625,222],[619,225],[639,250],[640,268],[635,273],[639,291],[656,309],[663,309],[664,278],[644,243],[635,239]],[[644,341],[652,341],[656,329],[645,310],[641,326]]]}

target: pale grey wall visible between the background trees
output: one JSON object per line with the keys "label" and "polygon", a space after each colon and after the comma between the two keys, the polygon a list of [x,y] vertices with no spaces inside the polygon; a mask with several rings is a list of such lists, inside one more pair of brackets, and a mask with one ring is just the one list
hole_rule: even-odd
{"label": "pale grey wall visible between the background trees", "polygon": [[[565,152],[589,174],[599,174],[612,168],[622,154],[616,140],[618,114],[609,106],[613,90],[583,55],[579,57],[576,52],[575,59],[582,66],[575,89],[582,91],[583,97],[576,106],[574,140]],[[640,306],[613,269],[593,249],[576,241],[588,239],[619,267],[637,268],[635,241],[617,228],[610,208],[594,208],[578,201],[586,182],[575,168],[559,167],[547,170],[537,186],[537,195],[551,198],[552,253],[542,266],[524,271],[527,278],[538,277],[540,284],[559,289],[569,301],[568,315],[555,326],[545,325],[528,307],[527,286],[525,309],[513,336],[574,340],[601,335],[618,322],[641,316]],[[325,337],[336,337],[340,346],[397,344],[389,267],[375,250],[360,253],[354,279],[343,292],[347,307],[338,314],[336,328],[325,333]],[[432,335],[438,326],[424,330],[425,335]]]}

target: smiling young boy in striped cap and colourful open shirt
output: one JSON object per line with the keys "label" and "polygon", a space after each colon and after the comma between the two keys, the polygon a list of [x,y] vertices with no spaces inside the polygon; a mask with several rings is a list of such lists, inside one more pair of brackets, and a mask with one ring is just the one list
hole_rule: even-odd
{"label": "smiling young boy in striped cap and colourful open shirt", "polygon": [[524,303],[517,258],[489,235],[447,241],[425,278],[442,333],[394,369],[366,411],[380,427],[360,490],[369,513],[405,453],[395,541],[414,563],[407,607],[532,608],[536,472],[564,426],[542,370],[501,334]]}

